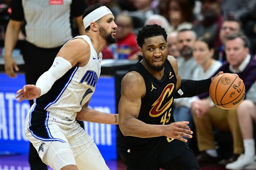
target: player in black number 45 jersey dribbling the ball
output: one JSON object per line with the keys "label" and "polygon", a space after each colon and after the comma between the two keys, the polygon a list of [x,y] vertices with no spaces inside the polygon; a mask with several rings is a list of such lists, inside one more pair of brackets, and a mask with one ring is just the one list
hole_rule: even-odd
{"label": "player in black number 45 jersey dribbling the ball", "polygon": [[159,25],[143,27],[137,35],[142,61],[121,82],[117,149],[127,170],[199,170],[183,138],[192,137],[189,122],[175,122],[172,107],[174,98],[208,91],[211,79],[181,80],[166,38]]}

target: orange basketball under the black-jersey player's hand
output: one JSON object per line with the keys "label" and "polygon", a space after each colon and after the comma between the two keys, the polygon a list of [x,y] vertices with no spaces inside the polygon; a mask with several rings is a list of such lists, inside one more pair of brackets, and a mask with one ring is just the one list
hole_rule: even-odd
{"label": "orange basketball under the black-jersey player's hand", "polygon": [[211,82],[209,94],[217,107],[227,110],[233,109],[244,100],[244,82],[236,74],[218,75]]}

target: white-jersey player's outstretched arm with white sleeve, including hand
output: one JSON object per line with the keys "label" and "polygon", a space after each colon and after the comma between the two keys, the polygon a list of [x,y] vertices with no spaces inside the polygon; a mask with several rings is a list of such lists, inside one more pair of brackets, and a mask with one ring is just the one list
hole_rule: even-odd
{"label": "white-jersey player's outstretched arm with white sleeve, including hand", "polygon": [[[50,69],[38,78],[36,86],[25,85],[25,88],[23,87],[17,91],[16,98],[19,98],[18,102],[24,99],[35,99],[44,95],[52,88],[56,80],[62,77],[73,66],[78,65],[78,63],[83,64],[81,66],[86,65],[89,61],[89,56],[90,47],[87,42],[81,38],[70,40],[59,51]],[[38,95],[36,93],[32,95],[31,93],[34,93],[36,88],[39,88],[40,94]]]}

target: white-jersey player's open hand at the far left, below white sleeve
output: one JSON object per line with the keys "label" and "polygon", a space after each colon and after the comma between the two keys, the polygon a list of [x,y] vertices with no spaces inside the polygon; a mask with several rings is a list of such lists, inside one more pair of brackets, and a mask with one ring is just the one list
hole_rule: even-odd
{"label": "white-jersey player's open hand at the far left, below white sleeve", "polygon": [[16,98],[18,99],[18,102],[21,102],[22,100],[32,100],[40,96],[41,89],[36,87],[33,84],[27,84],[23,86],[22,89],[19,89],[16,92],[16,94],[17,94]]}

